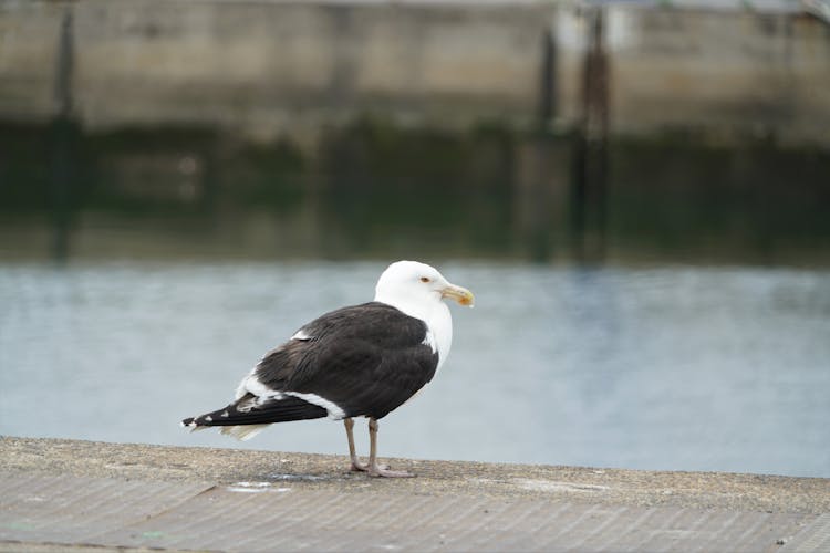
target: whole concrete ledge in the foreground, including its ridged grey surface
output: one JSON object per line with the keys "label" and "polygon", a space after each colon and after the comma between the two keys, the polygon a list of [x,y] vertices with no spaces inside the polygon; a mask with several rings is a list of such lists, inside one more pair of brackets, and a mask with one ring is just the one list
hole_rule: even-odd
{"label": "whole concrete ledge in the foreground, including its ridged grey surface", "polygon": [[[0,439],[0,551],[810,551],[830,480]],[[807,549],[805,549],[807,547]]]}

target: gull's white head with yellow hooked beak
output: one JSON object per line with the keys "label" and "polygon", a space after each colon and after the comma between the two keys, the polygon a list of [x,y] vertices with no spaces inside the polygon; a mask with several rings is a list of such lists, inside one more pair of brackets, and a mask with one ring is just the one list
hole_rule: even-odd
{"label": "gull's white head with yellow hooked beak", "polygon": [[473,293],[450,284],[434,267],[417,261],[397,261],[381,274],[375,286],[375,301],[387,303],[412,313],[450,298],[461,305],[473,306]]}

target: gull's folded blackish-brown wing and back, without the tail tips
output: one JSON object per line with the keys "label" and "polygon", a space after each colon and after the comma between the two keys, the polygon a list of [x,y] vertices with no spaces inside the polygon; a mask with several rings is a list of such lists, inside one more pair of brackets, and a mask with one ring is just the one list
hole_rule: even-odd
{"label": "gull's folded blackish-brown wing and back, without the tail tips", "polygon": [[432,380],[438,354],[426,324],[378,302],[343,307],[307,324],[269,353],[258,380],[278,392],[315,394],[346,417],[381,418]]}

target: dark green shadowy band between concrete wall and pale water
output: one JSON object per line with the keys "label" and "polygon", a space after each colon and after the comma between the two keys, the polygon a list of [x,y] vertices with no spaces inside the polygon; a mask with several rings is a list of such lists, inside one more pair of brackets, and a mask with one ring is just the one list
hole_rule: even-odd
{"label": "dark green shadowy band between concrete wall and pale water", "polygon": [[0,142],[0,259],[830,261],[830,156],[810,148],[618,139],[583,195],[570,137],[487,126],[364,121],[303,149],[58,122]]}

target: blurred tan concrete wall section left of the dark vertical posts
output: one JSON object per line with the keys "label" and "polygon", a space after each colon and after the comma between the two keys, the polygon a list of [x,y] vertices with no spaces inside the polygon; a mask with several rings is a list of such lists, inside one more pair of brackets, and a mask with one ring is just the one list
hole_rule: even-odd
{"label": "blurred tan concrete wall section left of the dark vertical posts", "polygon": [[365,112],[439,126],[528,122],[553,17],[549,7],[28,2],[0,13],[0,116],[53,111],[68,10],[86,125],[219,123],[266,136]]}

